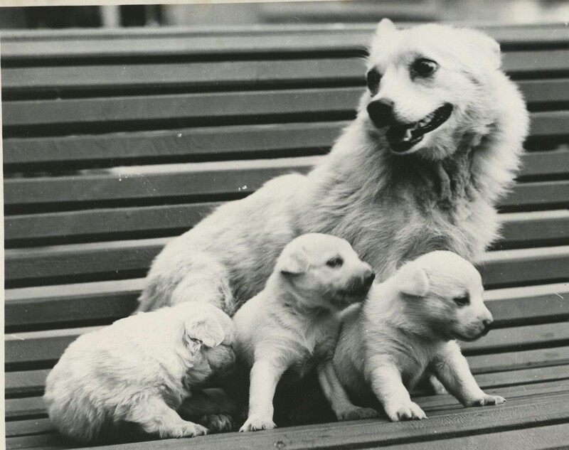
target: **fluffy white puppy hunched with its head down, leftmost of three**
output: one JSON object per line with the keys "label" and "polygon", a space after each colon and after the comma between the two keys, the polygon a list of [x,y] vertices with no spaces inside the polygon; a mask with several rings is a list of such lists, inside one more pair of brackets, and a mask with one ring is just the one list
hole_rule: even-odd
{"label": "fluffy white puppy hunched with its head down, leftmost of three", "polygon": [[[82,443],[112,441],[132,424],[161,438],[206,434],[176,409],[211,375],[232,368],[234,338],[231,319],[198,302],[123,318],[80,336],[46,380],[50,420]],[[222,422],[217,426],[228,421]]]}

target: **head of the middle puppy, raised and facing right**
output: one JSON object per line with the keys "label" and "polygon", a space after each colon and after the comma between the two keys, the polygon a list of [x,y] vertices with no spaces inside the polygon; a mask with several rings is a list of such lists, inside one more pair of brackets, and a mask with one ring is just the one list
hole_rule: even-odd
{"label": "head of the middle puppy, raised and facing right", "polygon": [[366,298],[375,275],[348,241],[311,233],[292,240],[275,271],[285,277],[305,306],[344,309]]}

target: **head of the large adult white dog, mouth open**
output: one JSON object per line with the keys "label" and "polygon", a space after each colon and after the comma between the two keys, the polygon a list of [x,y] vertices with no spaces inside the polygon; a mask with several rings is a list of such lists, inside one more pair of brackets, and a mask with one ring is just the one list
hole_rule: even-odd
{"label": "head of the large adult white dog, mouth open", "polygon": [[489,80],[500,64],[498,43],[478,31],[437,24],[398,30],[383,19],[371,43],[361,115],[393,153],[445,158],[465,133],[487,132]]}

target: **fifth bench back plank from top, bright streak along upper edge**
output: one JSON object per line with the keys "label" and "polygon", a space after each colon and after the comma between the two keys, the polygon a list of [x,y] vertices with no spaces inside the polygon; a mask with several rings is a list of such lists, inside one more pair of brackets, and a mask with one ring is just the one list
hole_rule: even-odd
{"label": "fifth bench back plank from top, bright streak along upper edge", "polygon": [[[566,154],[562,153],[562,161]],[[82,176],[11,178],[4,181],[5,205],[127,200],[159,197],[185,199],[240,195],[257,190],[275,176],[307,173],[319,157],[251,161],[163,164],[115,168]],[[528,169],[531,171],[531,169]],[[214,183],[212,181],[215,181]],[[243,188],[246,186],[246,188]],[[569,203],[569,181],[518,183],[501,201],[506,208],[549,207]]]}

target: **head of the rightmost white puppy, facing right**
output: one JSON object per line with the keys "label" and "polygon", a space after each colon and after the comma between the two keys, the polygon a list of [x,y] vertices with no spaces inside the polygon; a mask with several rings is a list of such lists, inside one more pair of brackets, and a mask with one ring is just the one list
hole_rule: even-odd
{"label": "head of the rightmost white puppy, facing right", "polygon": [[408,318],[418,328],[461,341],[474,341],[489,331],[492,315],[482,299],[482,278],[466,259],[452,252],[427,253],[405,264],[395,277]]}

